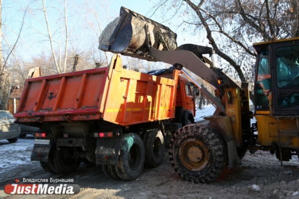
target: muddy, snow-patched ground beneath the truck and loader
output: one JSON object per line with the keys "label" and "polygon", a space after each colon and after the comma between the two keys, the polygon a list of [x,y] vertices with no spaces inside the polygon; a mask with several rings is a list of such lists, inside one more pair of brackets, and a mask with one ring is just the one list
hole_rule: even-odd
{"label": "muddy, snow-patched ground beneath the truck and loader", "polygon": [[[216,182],[192,184],[182,182],[164,158],[158,168],[145,168],[135,181],[107,178],[100,167],[82,164],[76,173],[53,175],[45,173],[38,162],[30,162],[33,138],[19,139],[14,144],[0,141],[0,198],[4,199],[280,199],[299,198],[299,162],[280,162],[268,152],[247,153],[242,165],[225,171]],[[17,155],[16,155],[17,154]],[[167,153],[165,153],[165,156]],[[20,161],[20,160],[21,161]],[[21,164],[20,164],[21,162]],[[3,187],[18,178],[74,179],[81,191],[73,196],[9,196]],[[253,186],[257,185],[257,186]],[[255,188],[255,189],[254,189]],[[260,191],[259,189],[260,188]]]}

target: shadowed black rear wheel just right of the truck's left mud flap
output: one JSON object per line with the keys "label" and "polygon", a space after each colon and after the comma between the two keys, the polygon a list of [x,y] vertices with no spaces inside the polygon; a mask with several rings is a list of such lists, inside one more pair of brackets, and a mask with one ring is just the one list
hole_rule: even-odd
{"label": "shadowed black rear wheel just right of the truck's left mud flap", "polygon": [[74,148],[63,147],[60,150],[54,150],[54,167],[60,174],[75,172],[80,166],[80,161],[73,158]]}

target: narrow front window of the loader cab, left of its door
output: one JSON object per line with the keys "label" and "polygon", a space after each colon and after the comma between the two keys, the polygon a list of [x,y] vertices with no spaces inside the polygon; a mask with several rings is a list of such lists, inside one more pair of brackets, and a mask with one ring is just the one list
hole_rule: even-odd
{"label": "narrow front window of the loader cab, left of its door", "polygon": [[271,75],[269,68],[269,50],[259,54],[258,73],[255,84],[256,110],[268,110],[271,88]]}

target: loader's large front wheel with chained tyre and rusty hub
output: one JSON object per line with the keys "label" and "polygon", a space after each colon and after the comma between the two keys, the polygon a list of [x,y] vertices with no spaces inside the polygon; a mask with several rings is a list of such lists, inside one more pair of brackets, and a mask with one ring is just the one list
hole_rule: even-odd
{"label": "loader's large front wheel with chained tyre and rusty hub", "polygon": [[200,124],[176,131],[170,142],[169,160],[174,171],[194,183],[208,183],[223,171],[226,146],[219,134]]}

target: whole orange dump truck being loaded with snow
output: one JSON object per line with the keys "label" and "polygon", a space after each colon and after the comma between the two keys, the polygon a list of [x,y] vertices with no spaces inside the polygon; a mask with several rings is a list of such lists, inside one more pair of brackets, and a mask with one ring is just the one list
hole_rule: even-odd
{"label": "whole orange dump truck being loaded with snow", "polygon": [[110,67],[27,79],[14,116],[40,127],[31,160],[45,171],[74,172],[87,160],[134,180],[144,164],[161,164],[167,133],[194,123],[196,95],[179,70],[127,70],[116,54]]}

